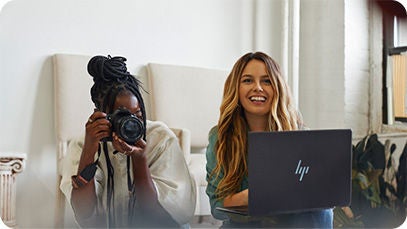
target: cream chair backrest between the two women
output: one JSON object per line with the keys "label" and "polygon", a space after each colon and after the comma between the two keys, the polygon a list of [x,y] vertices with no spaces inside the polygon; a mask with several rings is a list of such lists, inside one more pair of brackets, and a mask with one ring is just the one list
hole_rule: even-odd
{"label": "cream chair backrest between the two women", "polygon": [[147,66],[151,117],[191,131],[191,147],[204,148],[217,124],[228,72],[150,63]]}

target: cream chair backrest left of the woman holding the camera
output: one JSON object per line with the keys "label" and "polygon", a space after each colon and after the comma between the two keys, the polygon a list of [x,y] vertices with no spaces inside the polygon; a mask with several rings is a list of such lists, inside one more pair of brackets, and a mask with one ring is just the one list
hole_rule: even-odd
{"label": "cream chair backrest left of the woman holding the camera", "polygon": [[93,111],[90,98],[93,81],[87,72],[90,58],[70,54],[53,56],[58,160],[65,156],[67,142],[83,134],[85,122]]}

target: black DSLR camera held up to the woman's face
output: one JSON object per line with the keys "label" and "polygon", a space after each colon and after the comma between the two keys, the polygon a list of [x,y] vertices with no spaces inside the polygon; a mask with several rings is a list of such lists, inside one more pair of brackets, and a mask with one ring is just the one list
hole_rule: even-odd
{"label": "black DSLR camera held up to the woman's face", "polygon": [[[119,108],[108,114],[106,119],[112,124],[112,132],[115,132],[127,144],[133,145],[143,137],[144,124],[127,109]],[[112,141],[112,136],[106,138],[105,141]]]}

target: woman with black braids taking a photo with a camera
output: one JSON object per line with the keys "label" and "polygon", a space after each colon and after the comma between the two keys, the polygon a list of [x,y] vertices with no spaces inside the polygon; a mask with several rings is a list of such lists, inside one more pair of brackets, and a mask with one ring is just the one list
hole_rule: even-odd
{"label": "woman with black braids taking a photo with a camera", "polygon": [[175,134],[146,120],[125,61],[88,63],[96,108],[85,137],[69,144],[61,190],[82,227],[180,227],[193,216],[195,186]]}

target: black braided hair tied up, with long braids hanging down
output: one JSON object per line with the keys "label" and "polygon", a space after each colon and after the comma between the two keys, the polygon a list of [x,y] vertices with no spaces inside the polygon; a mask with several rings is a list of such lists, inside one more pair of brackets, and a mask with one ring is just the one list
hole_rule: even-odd
{"label": "black braided hair tied up, with long braids hanging down", "polygon": [[[143,89],[141,82],[127,71],[126,58],[94,56],[88,63],[88,72],[93,77],[93,86],[90,94],[95,107],[102,112],[112,113],[116,97],[123,93],[132,93],[138,100],[142,112],[143,124],[146,126],[146,112],[144,101],[140,89]],[[143,139],[146,140],[146,128],[144,128]],[[100,147],[100,146],[99,146]],[[103,151],[106,158],[108,169],[108,190],[107,190],[107,212],[109,217],[109,226],[114,226],[114,168],[111,164],[107,143],[103,142]],[[129,164],[127,165],[129,167]],[[129,170],[128,170],[129,171]],[[131,181],[129,181],[131,182]],[[129,184],[130,185],[130,184]],[[113,201],[113,204],[112,204]],[[129,209],[132,211],[132,209]]]}

